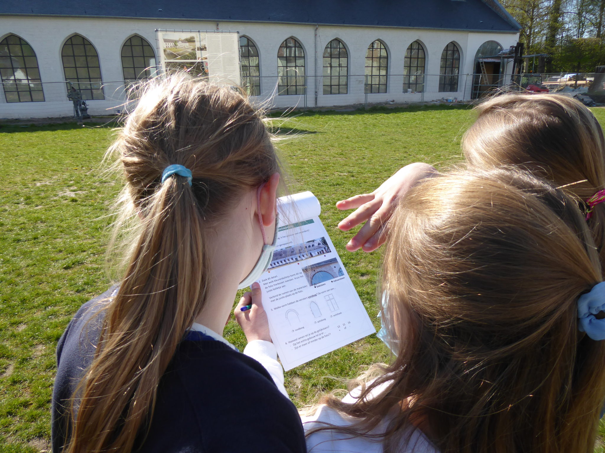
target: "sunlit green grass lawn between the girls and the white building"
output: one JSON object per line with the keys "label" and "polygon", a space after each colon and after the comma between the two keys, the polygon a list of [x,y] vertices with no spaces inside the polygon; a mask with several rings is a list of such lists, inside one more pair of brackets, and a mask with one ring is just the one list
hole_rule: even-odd
{"label": "sunlit green grass lawn between the girls and the white building", "polygon": [[[594,109],[605,124],[605,110]],[[415,161],[460,158],[471,124],[466,109],[417,108],[302,114],[287,122],[297,133],[281,144],[292,192],[311,190],[322,220],[376,326],[380,254],[350,253],[352,233],[336,224],[339,199],[373,190]],[[110,127],[63,124],[0,127],[0,453],[39,452],[50,442],[50,399],[56,342],[80,304],[105,291],[108,206],[117,184],[101,176]],[[231,321],[226,338],[243,349]],[[286,373],[298,406],[344,388],[339,378],[387,359],[371,335]]]}

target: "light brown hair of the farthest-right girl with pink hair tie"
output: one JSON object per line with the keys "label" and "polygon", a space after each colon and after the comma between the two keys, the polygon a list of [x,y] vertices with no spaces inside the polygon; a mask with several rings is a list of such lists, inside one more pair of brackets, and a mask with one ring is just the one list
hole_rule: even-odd
{"label": "light brown hair of the farthest-right girl with pink hair tie", "polygon": [[[586,211],[605,188],[605,138],[597,118],[580,101],[557,94],[503,94],[476,107],[477,121],[462,138],[471,165],[517,165],[564,186]],[[588,221],[605,263],[605,205]]]}

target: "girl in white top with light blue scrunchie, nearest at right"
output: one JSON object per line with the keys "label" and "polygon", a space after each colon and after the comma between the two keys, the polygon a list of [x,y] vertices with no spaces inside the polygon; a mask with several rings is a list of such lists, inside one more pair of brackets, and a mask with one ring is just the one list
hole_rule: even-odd
{"label": "girl in white top with light blue scrunchie, nearest at right", "polygon": [[591,453],[605,283],[577,202],[512,169],[411,188],[381,276],[393,359],[303,417],[312,453]]}

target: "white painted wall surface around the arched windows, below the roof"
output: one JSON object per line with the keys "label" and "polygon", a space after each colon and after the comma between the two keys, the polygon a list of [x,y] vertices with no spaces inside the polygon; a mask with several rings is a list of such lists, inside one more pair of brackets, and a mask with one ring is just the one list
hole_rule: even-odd
{"label": "white painted wall surface around the arched windows, below the roof", "polygon": [[[315,107],[338,106],[365,101],[365,54],[368,45],[376,39],[385,43],[389,54],[388,89],[386,94],[368,94],[367,101],[380,102],[420,101],[446,97],[468,98],[473,73],[474,56],[477,49],[487,40],[495,40],[508,48],[515,45],[518,33],[479,33],[451,30],[427,30],[415,28],[349,27],[345,25],[295,25],[267,22],[207,22],[176,21],[163,19],[110,19],[110,18],[63,18],[48,16],[0,15],[0,40],[8,34],[16,34],[33,47],[38,57],[42,82],[62,82],[64,72],[61,49],[68,37],[81,34],[88,39],[97,53],[101,74],[105,83],[105,100],[87,101],[93,115],[113,114],[123,103],[123,75],[120,52],[122,45],[133,34],[144,37],[157,53],[155,29],[164,30],[228,30],[239,31],[257,45],[260,53],[261,96],[269,99],[272,106]],[[306,55],[306,96],[284,96],[276,94],[277,51],[287,37],[295,37]],[[322,54],[325,45],[338,37],[344,42],[349,57],[348,94],[323,95]],[[425,92],[408,94],[402,92],[405,51],[414,40],[425,47],[427,68]],[[459,91],[438,92],[439,66],[443,48],[454,41],[461,54]],[[511,65],[509,65],[509,69]],[[434,74],[434,76],[431,76]],[[34,118],[72,115],[73,107],[67,99],[65,83],[44,83],[44,103],[6,103],[0,95],[0,118]]]}

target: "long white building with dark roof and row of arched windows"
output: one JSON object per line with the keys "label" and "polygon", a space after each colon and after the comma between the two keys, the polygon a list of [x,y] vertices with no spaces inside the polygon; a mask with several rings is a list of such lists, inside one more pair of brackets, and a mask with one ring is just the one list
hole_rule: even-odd
{"label": "long white building with dark roof and row of arched windows", "polygon": [[514,46],[520,28],[495,0],[157,4],[4,2],[0,118],[71,115],[66,80],[113,114],[125,83],[152,75],[158,28],[238,31],[243,83],[276,108],[469,98],[481,49]]}

